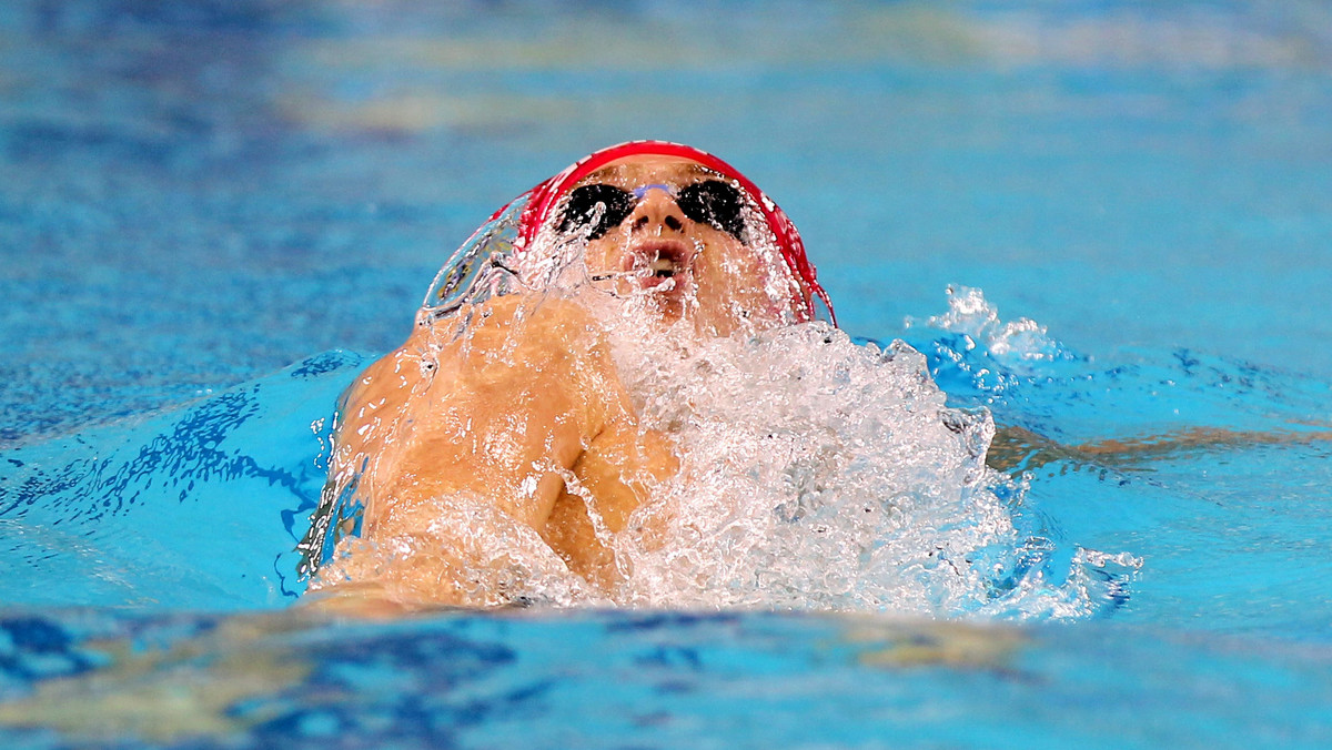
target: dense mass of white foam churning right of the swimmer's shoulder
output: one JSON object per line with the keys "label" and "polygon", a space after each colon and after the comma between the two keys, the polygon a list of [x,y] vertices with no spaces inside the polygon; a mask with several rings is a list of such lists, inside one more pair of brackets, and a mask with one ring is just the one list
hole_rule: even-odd
{"label": "dense mass of white foam churning right of the swimmer's shoulder", "polygon": [[[954,615],[984,598],[968,557],[1015,544],[983,462],[994,425],[948,409],[910,346],[819,322],[618,342],[645,425],[675,436],[683,469],[614,540],[617,601]],[[658,525],[662,546],[645,541]]]}

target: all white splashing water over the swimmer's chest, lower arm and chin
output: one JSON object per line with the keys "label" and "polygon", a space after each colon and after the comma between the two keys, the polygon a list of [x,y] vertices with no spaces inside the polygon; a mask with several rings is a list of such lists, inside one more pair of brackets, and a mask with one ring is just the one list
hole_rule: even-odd
{"label": "all white splashing water over the swimmer's chest, lower arm and chin", "polygon": [[[597,591],[533,529],[466,493],[413,500],[441,521],[340,548],[316,587],[378,581],[430,601],[429,591],[416,591],[410,571],[438,569],[457,575],[446,583],[430,575],[429,585],[446,585],[477,606],[1027,619],[1086,617],[1119,601],[1138,562],[1102,575],[1100,553],[1050,549],[1035,530],[1019,528],[1020,480],[984,464],[995,430],[990,412],[950,408],[926,357],[906,342],[858,345],[823,322],[774,326],[743,314],[737,333],[701,336],[687,316],[651,316],[651,289],[609,294],[589,284],[585,245],[586,237],[543,237],[525,265],[492,265],[517,273],[543,298],[587,308],[598,321],[589,328],[605,329],[589,334],[609,337],[639,428],[674,441],[681,470],[673,478],[625,477],[650,492],[618,533],[577,477],[546,468],[583,498],[593,533],[613,552],[618,575],[610,589]],[[964,337],[998,377],[1067,358],[1035,321],[1000,322],[979,289],[950,296],[950,312],[927,324]],[[446,338],[466,346],[476,309],[436,316],[430,325],[446,326]],[[517,345],[521,334],[513,336]],[[505,352],[497,356],[514,356]]]}

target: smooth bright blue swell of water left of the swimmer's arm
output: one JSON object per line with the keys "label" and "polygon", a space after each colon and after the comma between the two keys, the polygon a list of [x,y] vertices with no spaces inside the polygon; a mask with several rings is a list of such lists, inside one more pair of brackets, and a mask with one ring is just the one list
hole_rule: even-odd
{"label": "smooth bright blue swell of water left of the swimmer's arm", "polygon": [[185,408],[5,452],[0,598],[290,602],[304,589],[294,546],[324,484],[333,405],[361,365],[326,352]]}

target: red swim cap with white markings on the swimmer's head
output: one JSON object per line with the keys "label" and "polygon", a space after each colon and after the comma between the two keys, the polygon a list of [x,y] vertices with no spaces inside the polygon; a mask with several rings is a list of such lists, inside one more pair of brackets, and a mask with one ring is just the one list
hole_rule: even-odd
{"label": "red swim cap with white markings on the swimmer's head", "polygon": [[[559,175],[541,183],[523,194],[527,205],[522,210],[518,229],[519,236],[514,242],[514,249],[521,252],[535,240],[537,233],[550,220],[550,214],[555,210],[559,198],[577,185],[579,180],[611,161],[627,156],[643,155],[689,159],[713,172],[725,175],[743,188],[750,198],[753,198],[754,205],[763,212],[763,218],[767,220],[767,226],[773,232],[773,238],[777,241],[778,249],[782,252],[782,258],[786,261],[791,274],[799,280],[802,297],[799,302],[803,306],[803,312],[809,316],[807,320],[817,317],[814,300],[818,298],[827,308],[831,322],[836,325],[836,317],[832,314],[832,301],[829,300],[827,292],[819,286],[814,265],[805,256],[805,242],[801,241],[801,233],[795,230],[795,225],[791,224],[786,213],[771,198],[763,194],[763,190],[758,189],[758,185],[741,175],[738,169],[707,152],[682,144],[670,141],[629,141],[613,145],[583,157]],[[497,218],[507,208],[497,210],[492,220]]]}

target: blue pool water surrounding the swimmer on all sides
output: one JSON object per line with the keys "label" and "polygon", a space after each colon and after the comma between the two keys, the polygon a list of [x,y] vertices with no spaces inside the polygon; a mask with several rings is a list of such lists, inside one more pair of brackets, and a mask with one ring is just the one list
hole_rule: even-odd
{"label": "blue pool water surrounding the swimmer on all sides", "polygon": [[[762,8],[0,9],[0,741],[1327,746],[1328,11]],[[956,406],[1288,440],[1042,454],[995,590],[914,618],[257,614],[448,253],[643,136],[763,185]]]}

